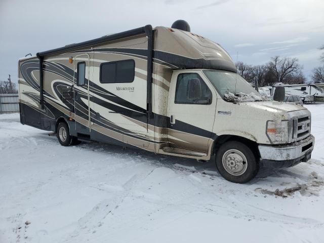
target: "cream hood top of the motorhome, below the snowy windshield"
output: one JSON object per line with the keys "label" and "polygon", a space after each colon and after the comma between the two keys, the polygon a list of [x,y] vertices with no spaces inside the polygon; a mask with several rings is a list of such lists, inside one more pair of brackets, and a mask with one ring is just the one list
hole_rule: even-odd
{"label": "cream hood top of the motorhome, below the snowy windshield", "polygon": [[258,101],[258,102],[240,102],[240,105],[247,105],[258,109],[268,110],[271,112],[290,112],[296,110],[305,110],[306,108],[301,105],[278,101]]}

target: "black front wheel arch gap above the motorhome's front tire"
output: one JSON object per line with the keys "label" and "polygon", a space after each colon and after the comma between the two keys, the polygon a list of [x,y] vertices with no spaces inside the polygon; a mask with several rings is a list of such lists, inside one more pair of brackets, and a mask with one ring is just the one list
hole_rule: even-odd
{"label": "black front wheel arch gap above the motorhome's front tire", "polygon": [[237,142],[244,143],[249,148],[252,148],[252,152],[254,153],[256,158],[260,158],[258,144],[255,141],[252,141],[252,140],[244,138],[244,137],[235,136],[235,135],[221,135],[221,136],[217,137],[217,139],[214,142],[214,149],[213,149],[214,154],[217,153],[217,150],[220,148],[220,146],[223,143],[228,142],[228,141],[237,141]]}

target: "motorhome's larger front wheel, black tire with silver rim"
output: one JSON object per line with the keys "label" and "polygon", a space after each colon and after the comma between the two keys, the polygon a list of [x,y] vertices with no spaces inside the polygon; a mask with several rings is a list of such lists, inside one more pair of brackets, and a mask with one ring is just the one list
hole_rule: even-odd
{"label": "motorhome's larger front wheel, black tire with silver rim", "polygon": [[249,182],[259,171],[259,163],[253,151],[237,141],[221,145],[216,154],[216,167],[226,180],[234,183]]}

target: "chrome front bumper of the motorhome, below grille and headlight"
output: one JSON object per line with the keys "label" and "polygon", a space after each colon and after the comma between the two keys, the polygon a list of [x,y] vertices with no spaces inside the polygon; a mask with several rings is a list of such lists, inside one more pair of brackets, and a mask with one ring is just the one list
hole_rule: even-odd
{"label": "chrome front bumper of the motorhome, below grille and headlight", "polygon": [[315,138],[310,135],[291,144],[259,145],[260,159],[264,166],[291,167],[310,159],[314,143]]}

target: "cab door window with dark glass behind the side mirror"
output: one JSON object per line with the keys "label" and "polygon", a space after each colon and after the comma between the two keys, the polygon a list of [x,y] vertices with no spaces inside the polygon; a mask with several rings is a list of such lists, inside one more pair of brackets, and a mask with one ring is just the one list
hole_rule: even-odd
{"label": "cab door window with dark glass behind the side mirror", "polygon": [[175,103],[212,103],[212,92],[197,73],[181,73],[177,78]]}

